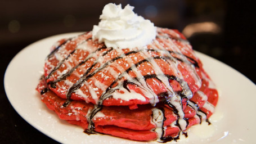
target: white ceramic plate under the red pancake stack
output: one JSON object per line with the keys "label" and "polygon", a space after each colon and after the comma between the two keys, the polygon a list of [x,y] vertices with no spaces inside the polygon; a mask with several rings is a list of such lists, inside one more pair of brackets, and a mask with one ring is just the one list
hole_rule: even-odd
{"label": "white ceramic plate under the red pancake stack", "polygon": [[[61,38],[78,34],[61,34],[39,40],[14,57],[5,73],[5,90],[11,105],[33,127],[61,143],[158,143],[101,134],[88,136],[82,128],[60,120],[41,102],[35,87],[43,74],[44,59],[50,53],[50,47]],[[218,88],[219,102],[210,119],[212,125],[192,127],[188,138],[181,137],[178,143],[254,143],[255,84],[222,62],[199,52],[196,54]]]}

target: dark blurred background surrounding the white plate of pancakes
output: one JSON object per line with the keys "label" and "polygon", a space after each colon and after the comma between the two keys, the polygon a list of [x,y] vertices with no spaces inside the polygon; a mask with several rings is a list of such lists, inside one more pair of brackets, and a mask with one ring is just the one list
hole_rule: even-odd
{"label": "dark blurred background surrounding the white plate of pancakes", "polygon": [[122,3],[123,7],[129,3],[138,15],[156,26],[182,31],[194,50],[230,65],[256,83],[253,0],[1,0],[0,143],[55,142],[26,123],[12,108],[3,88],[5,69],[20,50],[39,39],[92,30],[109,2]]}

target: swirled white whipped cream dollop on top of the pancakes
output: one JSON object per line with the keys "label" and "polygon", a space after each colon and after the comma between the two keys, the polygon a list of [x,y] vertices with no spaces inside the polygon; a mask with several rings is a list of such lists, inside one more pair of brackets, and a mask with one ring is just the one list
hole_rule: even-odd
{"label": "swirled white whipped cream dollop on top of the pancakes", "polygon": [[107,47],[135,48],[149,44],[156,37],[156,27],[133,12],[129,4],[106,4],[100,16],[101,21],[93,26],[93,40],[104,42]]}

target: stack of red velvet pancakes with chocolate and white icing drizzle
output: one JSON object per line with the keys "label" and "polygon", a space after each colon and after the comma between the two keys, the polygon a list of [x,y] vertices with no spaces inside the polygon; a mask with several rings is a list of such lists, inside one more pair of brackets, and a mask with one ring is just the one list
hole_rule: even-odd
{"label": "stack of red velvet pancakes with chocolate and white icing drizzle", "polygon": [[143,48],[106,47],[91,32],[60,40],[37,91],[86,133],[165,142],[213,114],[218,93],[210,83],[185,37],[158,28]]}

